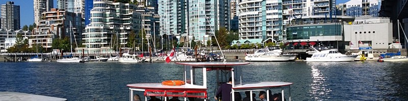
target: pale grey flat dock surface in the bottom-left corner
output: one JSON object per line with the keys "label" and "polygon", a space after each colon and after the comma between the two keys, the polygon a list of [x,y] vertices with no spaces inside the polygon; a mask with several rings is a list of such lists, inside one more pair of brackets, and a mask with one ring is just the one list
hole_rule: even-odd
{"label": "pale grey flat dock surface in the bottom-left corner", "polygon": [[41,100],[41,101],[64,101],[67,100],[65,98],[58,98],[58,97],[51,97],[51,96],[44,96],[44,95],[36,95],[36,94],[28,94],[28,93],[20,93],[20,92],[0,92],[0,100]]}

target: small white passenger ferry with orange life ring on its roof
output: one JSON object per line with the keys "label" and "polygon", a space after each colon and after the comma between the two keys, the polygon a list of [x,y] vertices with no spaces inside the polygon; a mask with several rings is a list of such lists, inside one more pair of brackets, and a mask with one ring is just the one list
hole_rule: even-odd
{"label": "small white passenger ferry with orange life ring on its roof", "polygon": [[[232,78],[231,99],[235,100],[236,92],[250,92],[250,99],[253,99],[252,93],[265,91],[266,99],[272,99],[271,89],[278,89],[282,94],[279,97],[291,100],[290,86],[293,83],[289,82],[243,82],[242,65],[249,64],[247,62],[196,62],[196,63],[179,63],[184,65],[184,80],[182,81],[165,81],[163,83],[137,83],[128,84],[130,92],[130,100],[134,100],[134,91],[144,92],[144,100],[147,101],[146,96],[163,97],[162,100],[168,100],[168,97],[182,97],[182,100],[187,101],[190,98],[199,98],[201,100],[209,100],[209,93],[207,92],[207,72],[215,70],[216,83],[223,84],[228,81],[227,78]],[[198,72],[202,71],[202,72]],[[170,85],[166,84],[169,82]],[[171,83],[173,82],[173,83]],[[214,81],[211,81],[214,82]],[[215,84],[214,84],[215,85]],[[219,85],[218,85],[219,86]],[[218,88],[218,87],[217,87]],[[285,93],[289,90],[289,93]],[[285,97],[288,95],[289,97]],[[242,97],[241,97],[242,98]],[[141,100],[141,99],[140,99]],[[196,99],[197,100],[197,99]]]}

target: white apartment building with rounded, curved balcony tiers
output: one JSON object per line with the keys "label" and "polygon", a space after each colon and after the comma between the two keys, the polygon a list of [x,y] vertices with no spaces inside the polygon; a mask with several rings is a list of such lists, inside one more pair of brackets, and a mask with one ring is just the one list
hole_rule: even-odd
{"label": "white apartment building with rounded, curved balcony tiers", "polygon": [[[133,4],[93,1],[91,22],[82,34],[83,45],[87,48],[85,52],[110,51],[111,40],[118,40],[121,45],[126,44],[129,32],[138,33],[142,26],[142,16],[136,9],[137,6]],[[116,36],[116,39],[112,36]]]}

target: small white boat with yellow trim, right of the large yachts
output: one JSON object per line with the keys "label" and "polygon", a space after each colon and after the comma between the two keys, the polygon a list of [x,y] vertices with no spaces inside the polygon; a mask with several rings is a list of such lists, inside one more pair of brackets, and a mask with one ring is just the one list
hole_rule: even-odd
{"label": "small white boat with yellow trim, right of the large yachts", "polygon": [[359,55],[354,61],[377,61],[378,57],[374,57],[372,49],[362,49],[358,53],[351,53],[351,55]]}

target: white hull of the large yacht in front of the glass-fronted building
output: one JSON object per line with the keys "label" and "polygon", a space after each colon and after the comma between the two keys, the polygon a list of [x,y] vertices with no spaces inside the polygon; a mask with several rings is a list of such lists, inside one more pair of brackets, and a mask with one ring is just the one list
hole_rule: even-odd
{"label": "white hull of the large yacht in front of the glass-fronted building", "polygon": [[358,55],[338,56],[338,57],[312,57],[306,58],[307,62],[349,62],[354,61]]}

